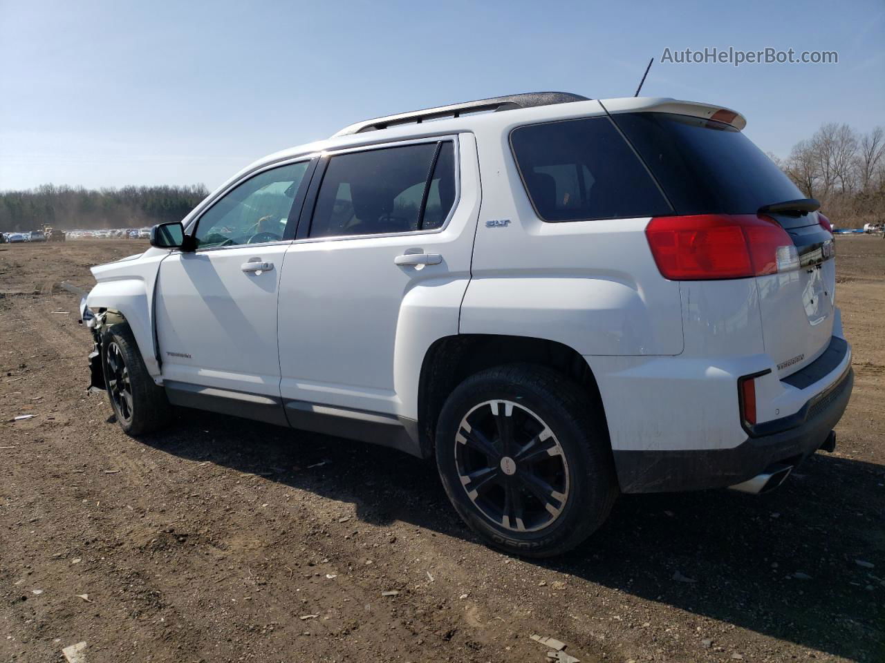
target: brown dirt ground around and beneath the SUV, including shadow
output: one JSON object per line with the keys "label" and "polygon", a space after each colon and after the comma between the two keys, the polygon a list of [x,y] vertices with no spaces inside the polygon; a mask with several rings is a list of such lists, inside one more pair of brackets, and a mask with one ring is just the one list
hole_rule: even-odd
{"label": "brown dirt ground around and beneath the SUV, including shadow", "polygon": [[542,663],[533,633],[585,663],[885,661],[885,240],[837,240],[835,453],[761,497],[623,497],[543,563],[480,545],[390,449],[196,411],[124,435],[58,284],[144,247],[0,246],[0,661]]}

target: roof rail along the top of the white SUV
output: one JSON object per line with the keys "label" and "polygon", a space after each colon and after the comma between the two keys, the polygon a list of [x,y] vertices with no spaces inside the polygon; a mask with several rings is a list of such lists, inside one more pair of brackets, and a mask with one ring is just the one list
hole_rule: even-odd
{"label": "roof rail along the top of the white SUV", "polygon": [[493,96],[490,99],[479,99],[474,102],[452,103],[449,106],[438,106],[425,110],[412,110],[408,113],[388,115],[384,118],[366,119],[356,124],[345,126],[335,136],[349,136],[353,133],[387,129],[389,126],[420,124],[427,119],[458,118],[467,113],[478,113],[486,110],[512,110],[514,108],[532,108],[533,106],[550,106],[554,103],[586,102],[589,98],[573,95],[568,92],[527,92],[522,95]]}

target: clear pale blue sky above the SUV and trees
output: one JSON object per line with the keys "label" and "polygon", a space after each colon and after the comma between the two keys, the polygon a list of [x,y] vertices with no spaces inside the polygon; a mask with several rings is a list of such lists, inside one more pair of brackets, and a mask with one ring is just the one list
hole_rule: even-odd
{"label": "clear pale blue sky above the SUV and trees", "polygon": [[[836,50],[677,65],[665,48]],[[204,183],[404,110],[533,90],[720,103],[786,156],[885,125],[885,3],[0,0],[0,189]]]}

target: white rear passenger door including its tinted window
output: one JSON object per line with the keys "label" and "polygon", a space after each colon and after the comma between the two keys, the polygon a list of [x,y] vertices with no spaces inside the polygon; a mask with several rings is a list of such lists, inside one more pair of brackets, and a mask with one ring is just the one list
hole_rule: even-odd
{"label": "white rear passenger door including its tinted window", "polygon": [[402,378],[420,366],[397,358],[458,333],[478,197],[470,134],[320,160],[280,284],[289,408],[415,415],[417,385]]}

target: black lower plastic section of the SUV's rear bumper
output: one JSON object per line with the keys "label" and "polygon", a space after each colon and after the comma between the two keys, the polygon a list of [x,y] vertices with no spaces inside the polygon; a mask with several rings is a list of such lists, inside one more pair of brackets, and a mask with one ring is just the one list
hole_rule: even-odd
{"label": "black lower plastic section of the SUV's rear bumper", "polygon": [[796,415],[771,422],[768,431],[726,449],[615,450],[621,492],[696,491],[741,484],[773,464],[797,465],[827,442],[848,406],[850,367]]}

